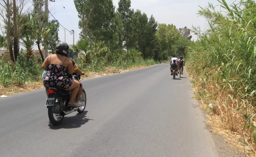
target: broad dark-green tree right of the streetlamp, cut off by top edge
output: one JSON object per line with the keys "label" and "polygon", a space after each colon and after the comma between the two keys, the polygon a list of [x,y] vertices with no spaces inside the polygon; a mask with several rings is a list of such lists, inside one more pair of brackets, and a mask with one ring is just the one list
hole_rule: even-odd
{"label": "broad dark-green tree right of the streetlamp, cut off by top edge", "polygon": [[[113,40],[115,8],[112,0],[74,0],[78,17],[81,19],[82,37],[89,37],[107,45]],[[86,24],[86,25],[85,25]],[[90,34],[88,34],[90,32]]]}

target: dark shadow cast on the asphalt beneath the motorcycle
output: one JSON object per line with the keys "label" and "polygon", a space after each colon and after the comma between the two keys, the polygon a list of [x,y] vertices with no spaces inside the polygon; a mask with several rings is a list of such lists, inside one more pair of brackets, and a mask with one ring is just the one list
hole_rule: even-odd
{"label": "dark shadow cast on the asphalt beneath the motorcycle", "polygon": [[[72,129],[72,128],[80,128],[83,124],[89,122],[89,119],[86,114],[88,111],[84,111],[81,114],[76,114],[75,116],[71,117],[64,117],[64,120],[59,125],[53,125],[49,122],[49,128],[53,130],[58,129]],[[93,120],[94,121],[94,120]]]}

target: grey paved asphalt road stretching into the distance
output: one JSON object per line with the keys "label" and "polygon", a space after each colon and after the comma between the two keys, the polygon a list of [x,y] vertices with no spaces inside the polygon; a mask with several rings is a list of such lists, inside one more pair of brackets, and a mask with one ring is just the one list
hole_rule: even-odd
{"label": "grey paved asphalt road stretching into the distance", "polygon": [[83,80],[87,107],[49,123],[44,90],[0,99],[0,157],[217,157],[187,75],[169,64]]}

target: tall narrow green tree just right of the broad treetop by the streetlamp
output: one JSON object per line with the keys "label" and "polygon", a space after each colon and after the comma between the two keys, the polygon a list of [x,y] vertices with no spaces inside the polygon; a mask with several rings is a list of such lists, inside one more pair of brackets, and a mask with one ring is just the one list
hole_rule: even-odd
{"label": "tall narrow green tree just right of the broad treetop by the streetlamp", "polygon": [[117,11],[122,17],[123,23],[123,42],[124,48],[127,49],[127,61],[129,56],[129,48],[135,45],[134,41],[134,10],[130,9],[130,0],[120,0],[118,2]]}

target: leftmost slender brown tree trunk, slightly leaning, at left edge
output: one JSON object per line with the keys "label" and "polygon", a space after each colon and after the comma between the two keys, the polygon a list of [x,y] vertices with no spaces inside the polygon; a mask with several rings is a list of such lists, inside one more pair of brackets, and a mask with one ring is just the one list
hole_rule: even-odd
{"label": "leftmost slender brown tree trunk, slightly leaning, at left edge", "polygon": [[11,9],[10,9],[10,3],[9,0],[7,0],[7,18],[8,18],[8,24],[7,24],[7,43],[8,43],[8,49],[9,49],[9,54],[11,56],[11,60],[15,62],[15,59],[13,57],[13,52],[12,52],[12,42],[11,42]]}

